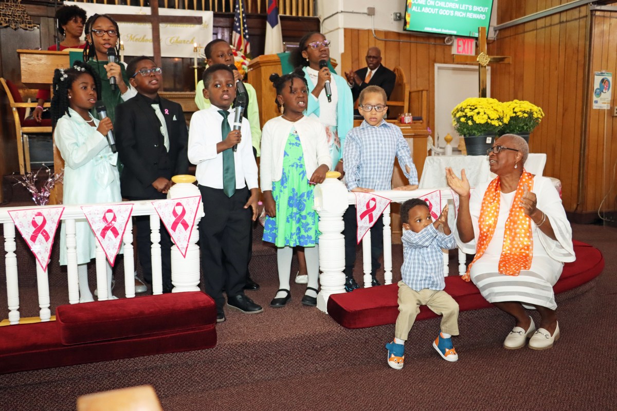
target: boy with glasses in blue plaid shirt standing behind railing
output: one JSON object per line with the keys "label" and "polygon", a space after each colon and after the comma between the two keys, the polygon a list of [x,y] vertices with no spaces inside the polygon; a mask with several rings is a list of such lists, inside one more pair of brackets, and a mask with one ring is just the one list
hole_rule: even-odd
{"label": "boy with glasses in blue plaid shirt standing behind railing", "polygon": [[[359,127],[351,129],[345,139],[343,169],[347,190],[370,193],[375,190],[392,189],[394,158],[399,160],[409,184],[394,190],[415,190],[418,188],[418,173],[411,156],[411,150],[399,126],[387,123],[383,118],[387,112],[386,92],[379,86],[368,86],[360,92],[358,110],[364,117]],[[343,214],[345,229],[345,290],[349,293],[358,288],[354,280],[356,251],[355,205],[349,206]],[[377,270],[379,257],[383,253],[383,216],[379,216],[371,227],[371,285],[380,285]]]}

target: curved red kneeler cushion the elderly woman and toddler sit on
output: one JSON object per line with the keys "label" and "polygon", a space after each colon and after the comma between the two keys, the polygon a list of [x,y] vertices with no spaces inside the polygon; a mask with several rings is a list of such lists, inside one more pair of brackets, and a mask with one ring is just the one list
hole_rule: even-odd
{"label": "curved red kneeler cushion the elderly woman and toddler sit on", "polygon": [[[600,250],[576,240],[573,243],[576,261],[568,262],[563,267],[561,277],[554,287],[555,293],[571,290],[595,279],[604,268]],[[398,288],[396,284],[391,284],[331,295],[328,314],[346,328],[394,324],[399,315]],[[465,282],[458,276],[445,278],[445,291],[457,301],[460,311],[492,307],[473,283]],[[437,314],[426,306],[420,307],[418,320],[433,317],[437,317]]]}

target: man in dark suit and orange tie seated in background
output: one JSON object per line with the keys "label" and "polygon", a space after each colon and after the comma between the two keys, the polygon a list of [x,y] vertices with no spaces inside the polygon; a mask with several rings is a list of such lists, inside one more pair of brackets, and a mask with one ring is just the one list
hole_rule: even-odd
{"label": "man in dark suit and orange tie seated in background", "polygon": [[370,47],[366,51],[366,65],[368,67],[360,68],[360,70],[345,72],[347,83],[349,83],[354,96],[354,102],[360,96],[360,92],[368,86],[383,88],[389,99],[392,90],[394,90],[396,75],[394,71],[381,65],[381,50],[378,47]]}

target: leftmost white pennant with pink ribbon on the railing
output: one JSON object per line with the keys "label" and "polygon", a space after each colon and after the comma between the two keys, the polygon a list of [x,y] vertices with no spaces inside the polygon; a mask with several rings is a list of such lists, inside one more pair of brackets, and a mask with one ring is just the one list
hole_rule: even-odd
{"label": "leftmost white pennant with pink ribbon on the railing", "polygon": [[9,211],[15,227],[26,240],[30,251],[35,254],[36,261],[43,271],[49,264],[51,246],[54,245],[54,235],[63,212],[64,207]]}

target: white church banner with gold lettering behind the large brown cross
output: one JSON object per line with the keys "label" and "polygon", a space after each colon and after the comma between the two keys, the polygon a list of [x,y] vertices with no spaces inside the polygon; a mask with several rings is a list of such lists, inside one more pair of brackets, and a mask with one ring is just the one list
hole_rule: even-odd
{"label": "white church banner with gold lettering behind the large brown cross", "polygon": [[[88,14],[88,16],[94,14],[147,16],[151,14],[150,7],[147,6],[116,6],[114,4],[82,3],[71,1],[65,1],[64,6],[81,7],[86,10],[86,14]],[[197,53],[203,56],[205,45],[210,43],[212,40],[212,12],[164,9],[163,7],[160,7],[159,15],[202,18],[201,25],[186,23],[160,23],[160,54],[162,57],[197,57],[193,48],[194,44],[197,44]],[[151,22],[128,23],[118,21],[118,27],[120,28],[120,40],[122,40],[124,46],[124,51],[120,51],[121,55],[153,55]]]}

